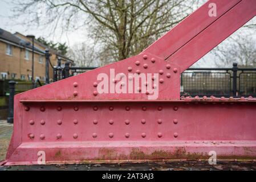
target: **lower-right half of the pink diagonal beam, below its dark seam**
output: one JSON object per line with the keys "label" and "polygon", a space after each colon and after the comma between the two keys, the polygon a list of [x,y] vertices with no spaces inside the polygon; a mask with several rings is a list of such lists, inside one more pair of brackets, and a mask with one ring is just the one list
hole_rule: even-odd
{"label": "lower-right half of the pink diagonal beam, below its dark seam", "polygon": [[256,15],[256,1],[243,0],[217,19],[200,34],[178,49],[166,61],[180,66],[184,72],[202,56],[218,46]]}

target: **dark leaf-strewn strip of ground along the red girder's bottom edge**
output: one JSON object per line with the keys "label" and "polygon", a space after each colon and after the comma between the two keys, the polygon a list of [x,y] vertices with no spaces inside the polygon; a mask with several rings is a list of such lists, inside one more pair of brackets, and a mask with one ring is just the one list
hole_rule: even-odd
{"label": "dark leaf-strewn strip of ground along the red girder's bottom edge", "polygon": [[143,164],[73,164],[51,166],[9,166],[0,167],[0,171],[27,171],[27,170],[72,170],[72,171],[256,171],[253,162],[218,162],[209,165],[207,162],[186,161],[169,163]]}

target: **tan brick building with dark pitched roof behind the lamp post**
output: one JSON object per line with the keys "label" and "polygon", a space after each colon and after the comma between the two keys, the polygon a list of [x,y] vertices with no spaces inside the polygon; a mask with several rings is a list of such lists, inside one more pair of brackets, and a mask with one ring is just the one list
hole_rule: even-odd
{"label": "tan brick building with dark pitched roof behind the lamp post", "polygon": [[[34,79],[45,81],[44,50],[47,46],[35,40],[34,43]],[[51,64],[56,65],[61,59],[74,63],[71,59],[61,55],[58,51],[50,49]],[[11,34],[0,28],[0,80],[31,80],[32,73],[32,40],[18,32]],[[49,66],[50,81],[53,78],[53,70]]]}

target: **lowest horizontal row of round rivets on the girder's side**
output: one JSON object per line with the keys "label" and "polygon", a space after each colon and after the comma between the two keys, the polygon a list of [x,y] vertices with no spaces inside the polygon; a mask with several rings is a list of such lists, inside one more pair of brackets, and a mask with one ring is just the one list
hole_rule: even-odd
{"label": "lowest horizontal row of round rivets on the girder's side", "polygon": [[[129,138],[129,137],[130,137],[130,134],[129,134],[129,133],[125,133],[124,136],[125,136],[126,138]],[[30,137],[30,139],[34,139],[34,138],[35,138],[35,135],[34,135],[34,134],[29,134],[29,137]],[[109,133],[109,134],[108,134],[108,137],[109,137],[109,138],[113,138],[113,137],[114,137],[114,134],[113,134],[113,133]],[[142,133],[142,134],[141,134],[141,137],[142,137],[142,138],[147,137],[146,133]],[[157,133],[157,137],[161,138],[161,137],[162,137],[162,133]],[[174,138],[177,138],[177,137],[178,137],[178,134],[177,134],[177,133],[174,133],[174,134],[173,134],[173,137],[174,137]],[[57,138],[57,139],[62,138],[62,134],[58,133],[58,134],[56,135],[56,138]],[[73,138],[74,138],[74,139],[78,138],[78,134],[74,134],[74,135],[73,135]],[[96,133],[93,133],[93,134],[92,134],[92,138],[97,138],[97,134],[96,134]],[[44,134],[40,134],[40,139],[42,139],[42,140],[45,139]]]}

